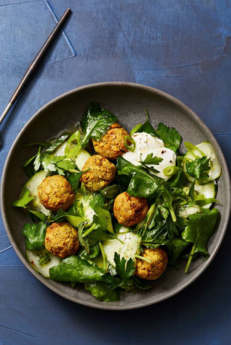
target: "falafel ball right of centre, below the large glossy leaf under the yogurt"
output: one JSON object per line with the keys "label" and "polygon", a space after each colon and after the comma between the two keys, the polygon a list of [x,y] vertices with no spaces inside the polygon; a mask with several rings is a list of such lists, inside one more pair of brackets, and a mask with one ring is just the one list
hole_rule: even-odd
{"label": "falafel ball right of centre, below the large glossy leaf under the yogurt", "polygon": [[143,220],[149,210],[148,201],[127,192],[119,194],[114,201],[113,213],[119,224],[132,226]]}

